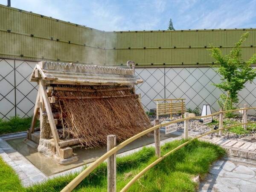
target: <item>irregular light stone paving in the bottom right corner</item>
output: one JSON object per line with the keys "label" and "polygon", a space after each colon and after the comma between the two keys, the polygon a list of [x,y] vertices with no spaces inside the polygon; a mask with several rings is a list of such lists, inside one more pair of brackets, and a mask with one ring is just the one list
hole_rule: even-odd
{"label": "irregular light stone paving in the bottom right corner", "polygon": [[238,157],[215,162],[200,192],[256,192],[256,161]]}

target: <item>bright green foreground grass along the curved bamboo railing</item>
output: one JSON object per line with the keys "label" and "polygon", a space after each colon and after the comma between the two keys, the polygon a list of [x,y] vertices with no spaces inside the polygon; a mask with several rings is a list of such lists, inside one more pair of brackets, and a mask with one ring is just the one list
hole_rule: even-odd
{"label": "bright green foreground grass along the curved bamboo railing", "polygon": [[[166,143],[161,147],[161,152],[166,154],[184,142],[184,140],[180,140]],[[192,181],[192,178],[196,175],[204,177],[209,170],[210,164],[223,157],[224,154],[224,149],[218,145],[198,140],[192,141],[146,172],[143,177],[131,186],[129,191],[193,192],[198,186],[197,183]],[[117,158],[117,191],[120,191],[132,177],[154,160],[156,160],[154,148],[143,148],[141,151],[129,156]],[[3,166],[3,168],[0,169],[0,182],[2,182],[0,191],[58,192],[78,174],[57,177],[29,188],[23,188],[18,177],[9,166],[5,163],[2,164],[1,167]],[[74,191],[107,191],[106,176],[107,165],[102,163]]]}

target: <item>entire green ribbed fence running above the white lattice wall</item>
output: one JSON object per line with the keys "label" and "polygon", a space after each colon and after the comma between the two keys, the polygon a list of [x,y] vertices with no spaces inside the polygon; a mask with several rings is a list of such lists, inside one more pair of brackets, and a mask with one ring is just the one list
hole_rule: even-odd
{"label": "entire green ribbed fence running above the white lattice wall", "polygon": [[102,32],[0,5],[0,56],[11,58],[22,54],[26,59],[93,64],[209,64],[214,60],[204,46],[222,46],[227,54],[247,31],[244,60],[256,52],[256,29]]}

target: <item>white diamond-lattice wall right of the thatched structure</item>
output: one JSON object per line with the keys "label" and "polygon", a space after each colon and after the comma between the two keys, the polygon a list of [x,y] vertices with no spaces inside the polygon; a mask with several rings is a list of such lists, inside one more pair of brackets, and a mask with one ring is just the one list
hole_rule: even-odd
{"label": "white diamond-lattice wall right of the thatched structure", "polygon": [[[201,109],[210,104],[212,111],[219,111],[218,99],[221,93],[213,83],[219,83],[221,76],[212,67],[140,68],[137,75],[144,80],[137,86],[146,111],[156,108],[153,99],[185,98],[186,108]],[[238,107],[247,103],[256,105],[256,80],[239,92]],[[250,111],[251,114],[256,110]]]}

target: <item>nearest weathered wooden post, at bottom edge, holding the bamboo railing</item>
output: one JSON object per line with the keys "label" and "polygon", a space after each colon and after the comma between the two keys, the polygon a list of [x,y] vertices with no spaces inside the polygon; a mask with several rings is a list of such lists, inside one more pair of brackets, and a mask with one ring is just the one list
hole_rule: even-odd
{"label": "nearest weathered wooden post, at bottom edge, holding the bamboo railing", "polygon": [[[108,151],[116,146],[116,136],[108,135]],[[108,192],[116,192],[116,153],[108,157]]]}

